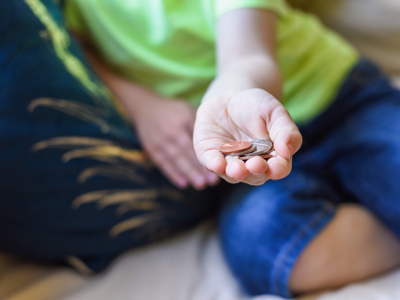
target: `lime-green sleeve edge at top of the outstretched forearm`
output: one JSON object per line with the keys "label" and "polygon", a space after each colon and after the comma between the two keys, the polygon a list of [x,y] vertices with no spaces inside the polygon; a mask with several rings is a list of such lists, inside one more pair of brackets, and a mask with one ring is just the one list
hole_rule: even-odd
{"label": "lime-green sleeve edge at top of the outstretched forearm", "polygon": [[288,6],[285,0],[216,0],[217,17],[239,8],[260,8],[271,10],[278,16],[285,16]]}

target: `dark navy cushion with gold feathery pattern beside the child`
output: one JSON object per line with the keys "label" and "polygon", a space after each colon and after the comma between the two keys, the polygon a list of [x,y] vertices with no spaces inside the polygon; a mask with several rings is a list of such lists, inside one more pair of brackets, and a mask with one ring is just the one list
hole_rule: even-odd
{"label": "dark navy cushion with gold feathery pattern beside the child", "polygon": [[218,194],[178,190],[148,161],[55,3],[0,1],[0,251],[96,272]]}

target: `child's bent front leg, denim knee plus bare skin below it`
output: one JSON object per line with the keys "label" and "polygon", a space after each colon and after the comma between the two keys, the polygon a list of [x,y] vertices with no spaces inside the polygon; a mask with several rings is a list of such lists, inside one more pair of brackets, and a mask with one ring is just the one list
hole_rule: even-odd
{"label": "child's bent front leg, denim knee plus bare skin below it", "polygon": [[[400,264],[400,240],[358,204],[298,173],[242,187],[221,218],[227,261],[252,295],[336,288]],[[336,213],[335,213],[336,211]]]}

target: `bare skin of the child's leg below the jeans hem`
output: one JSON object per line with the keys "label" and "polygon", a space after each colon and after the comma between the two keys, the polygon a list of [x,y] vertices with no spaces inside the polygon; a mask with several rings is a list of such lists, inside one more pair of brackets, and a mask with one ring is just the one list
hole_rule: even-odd
{"label": "bare skin of the child's leg below the jeans hem", "polygon": [[343,204],[301,253],[289,287],[293,293],[336,288],[400,264],[400,240],[366,208]]}

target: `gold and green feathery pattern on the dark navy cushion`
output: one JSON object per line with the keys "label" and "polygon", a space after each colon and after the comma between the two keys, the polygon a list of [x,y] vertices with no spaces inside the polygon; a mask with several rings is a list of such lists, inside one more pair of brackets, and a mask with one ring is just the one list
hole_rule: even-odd
{"label": "gold and green feathery pattern on the dark navy cushion", "polygon": [[[64,64],[66,71],[82,84],[82,87],[85,88],[95,103],[95,106],[90,106],[71,100],[38,98],[30,103],[28,110],[34,112],[38,107],[47,107],[84,122],[94,124],[100,128],[102,133],[119,135],[119,129],[105,119],[109,116],[111,110],[118,111],[118,109],[115,109],[115,102],[113,102],[111,93],[104,86],[94,82],[84,64],[69,51],[70,40],[67,32],[58,26],[46,6],[40,0],[25,0],[25,3],[46,27],[49,39],[53,43],[54,51]],[[48,148],[70,150],[62,157],[62,160],[66,163],[72,159],[90,158],[109,164],[108,166],[95,166],[82,170],[77,175],[80,184],[84,184],[94,176],[109,176],[142,184],[143,180],[145,180],[144,177],[136,174],[134,169],[150,165],[148,158],[143,152],[123,149],[117,143],[107,139],[60,136],[38,142],[33,145],[32,150],[33,152],[37,152]],[[123,167],[121,167],[121,161],[124,163]],[[131,170],[128,171],[128,168],[131,168]],[[148,213],[116,224],[110,229],[109,235],[110,237],[117,237],[127,230],[140,228],[140,230],[136,230],[135,234],[143,234],[151,239],[152,236],[155,237],[157,234],[160,234],[160,229],[164,228],[163,218],[165,218],[166,214],[172,213],[166,213],[165,209],[163,210],[156,202],[157,197],[163,192],[165,195],[172,196],[172,199],[180,199],[180,195],[178,196],[172,190],[103,190],[78,196],[73,200],[72,207],[79,208],[84,203],[97,201],[100,208],[109,205],[118,205],[120,213],[129,211],[130,209],[138,209],[139,207],[142,210],[149,210],[150,212]],[[91,272],[77,257],[70,256],[68,257],[68,261],[86,273]]]}

